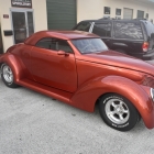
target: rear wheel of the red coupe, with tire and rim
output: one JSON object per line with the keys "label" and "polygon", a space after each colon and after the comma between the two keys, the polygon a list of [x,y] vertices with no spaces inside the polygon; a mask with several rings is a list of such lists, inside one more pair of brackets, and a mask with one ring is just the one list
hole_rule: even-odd
{"label": "rear wheel of the red coupe, with tire and rim", "polygon": [[2,81],[4,82],[6,86],[8,86],[10,88],[16,88],[18,87],[18,85],[14,84],[14,75],[13,75],[12,69],[6,63],[3,63],[1,65],[1,78],[2,78]]}

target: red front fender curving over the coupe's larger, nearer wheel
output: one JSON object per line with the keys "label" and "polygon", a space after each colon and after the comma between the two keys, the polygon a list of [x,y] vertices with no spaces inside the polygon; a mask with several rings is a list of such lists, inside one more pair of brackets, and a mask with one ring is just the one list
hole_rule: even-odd
{"label": "red front fender curving over the coupe's larger, nearer wheel", "polygon": [[129,78],[106,76],[84,84],[73,96],[75,107],[92,112],[98,98],[106,94],[119,94],[129,99],[148,129],[154,127],[154,102],[144,88]]}

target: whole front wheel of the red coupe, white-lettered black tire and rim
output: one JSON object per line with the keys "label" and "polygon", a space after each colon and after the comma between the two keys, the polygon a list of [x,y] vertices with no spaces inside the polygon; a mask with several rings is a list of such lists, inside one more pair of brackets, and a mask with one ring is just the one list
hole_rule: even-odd
{"label": "whole front wheel of the red coupe, white-lettered black tire and rim", "polygon": [[130,131],[140,121],[140,113],[135,107],[117,94],[101,97],[99,112],[106,124],[122,132]]}

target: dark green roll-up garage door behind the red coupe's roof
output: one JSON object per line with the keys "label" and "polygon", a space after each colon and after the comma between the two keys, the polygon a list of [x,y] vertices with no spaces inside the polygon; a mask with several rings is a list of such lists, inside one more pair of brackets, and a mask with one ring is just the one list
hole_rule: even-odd
{"label": "dark green roll-up garage door behind the red coupe's roof", "polygon": [[76,0],[46,0],[48,30],[70,30],[77,23]]}

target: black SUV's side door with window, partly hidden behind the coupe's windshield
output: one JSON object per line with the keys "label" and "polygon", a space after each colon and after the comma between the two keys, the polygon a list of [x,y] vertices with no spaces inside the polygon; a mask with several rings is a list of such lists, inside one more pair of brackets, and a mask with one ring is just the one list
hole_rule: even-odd
{"label": "black SUV's side door with window, partly hidden behind the coupe's windshield", "polygon": [[112,48],[111,30],[112,30],[111,21],[95,22],[92,33],[99,35],[101,40],[106,43],[106,45],[109,48]]}

